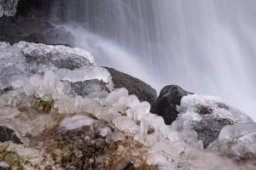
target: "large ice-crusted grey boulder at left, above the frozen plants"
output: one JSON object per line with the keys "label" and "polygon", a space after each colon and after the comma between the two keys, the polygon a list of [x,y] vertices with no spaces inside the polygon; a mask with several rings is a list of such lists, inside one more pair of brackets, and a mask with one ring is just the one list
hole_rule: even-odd
{"label": "large ice-crusted grey boulder at left, above the frozen plants", "polygon": [[90,87],[90,92],[93,88],[113,89],[110,73],[97,66],[90,53],[83,49],[32,42],[11,46],[0,42],[0,94],[20,88],[26,77],[45,71],[54,71],[61,81],[71,82],[76,94],[83,95],[84,87]]}

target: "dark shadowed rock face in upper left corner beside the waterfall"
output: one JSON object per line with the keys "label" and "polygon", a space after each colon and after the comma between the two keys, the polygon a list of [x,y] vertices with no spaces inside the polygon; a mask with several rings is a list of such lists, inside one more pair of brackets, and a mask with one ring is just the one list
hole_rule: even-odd
{"label": "dark shadowed rock face in upper left corner beside the waterfall", "polygon": [[[5,5],[1,17],[1,2]],[[44,36],[51,26],[48,22],[51,0],[0,0],[0,41],[11,44],[20,41],[41,42],[42,37],[31,37],[31,34]]]}

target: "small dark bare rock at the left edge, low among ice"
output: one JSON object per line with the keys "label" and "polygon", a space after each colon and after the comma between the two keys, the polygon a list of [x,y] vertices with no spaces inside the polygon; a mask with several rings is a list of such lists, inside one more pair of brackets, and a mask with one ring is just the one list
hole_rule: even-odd
{"label": "small dark bare rock at the left edge, low among ice", "polygon": [[16,136],[15,131],[9,127],[0,126],[0,137],[0,142],[7,142],[11,140],[15,144],[22,144],[20,139]]}

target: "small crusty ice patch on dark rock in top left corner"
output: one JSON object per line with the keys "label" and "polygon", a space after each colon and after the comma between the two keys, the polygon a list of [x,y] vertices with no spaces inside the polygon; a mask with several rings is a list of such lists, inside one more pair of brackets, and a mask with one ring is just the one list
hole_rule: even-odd
{"label": "small crusty ice patch on dark rock in top left corner", "polygon": [[19,0],[0,0],[0,17],[14,16]]}

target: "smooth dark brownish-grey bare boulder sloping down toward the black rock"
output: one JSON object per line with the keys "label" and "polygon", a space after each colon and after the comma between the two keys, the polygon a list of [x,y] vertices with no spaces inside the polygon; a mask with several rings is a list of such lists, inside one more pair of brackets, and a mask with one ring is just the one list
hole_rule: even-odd
{"label": "smooth dark brownish-grey bare boulder sloping down toward the black rock", "polygon": [[113,68],[105,67],[113,77],[114,88],[126,88],[129,94],[137,95],[137,98],[140,101],[148,101],[150,105],[154,103],[154,100],[157,97],[156,91],[154,88],[151,88],[145,82],[131,77],[123,72],[116,71]]}

